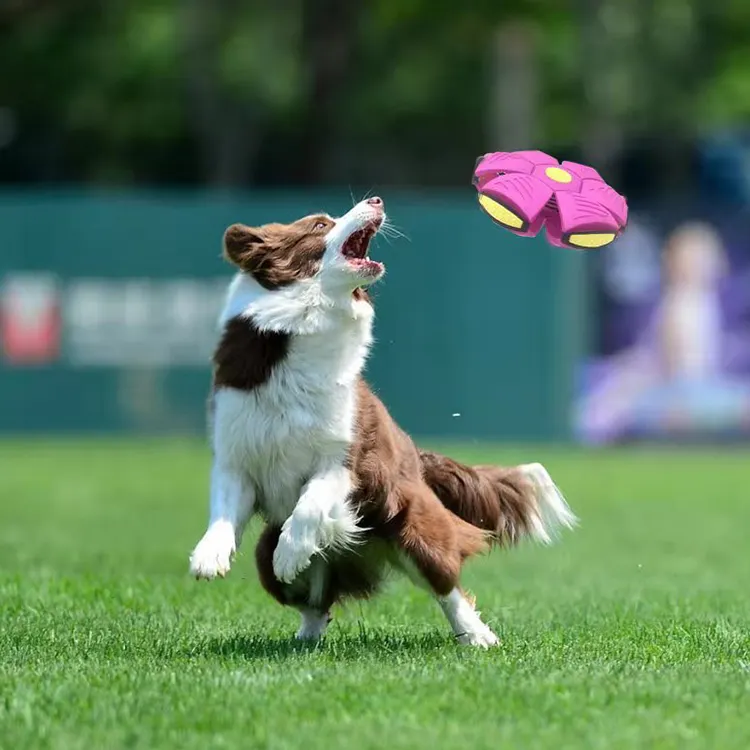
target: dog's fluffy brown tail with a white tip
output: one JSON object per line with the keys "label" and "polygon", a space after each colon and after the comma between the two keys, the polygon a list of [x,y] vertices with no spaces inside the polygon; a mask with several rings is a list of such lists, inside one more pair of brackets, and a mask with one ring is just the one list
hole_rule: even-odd
{"label": "dog's fluffy brown tail with a white tip", "polygon": [[550,544],[562,527],[577,523],[541,464],[465,466],[437,453],[420,455],[424,479],[443,505],[499,545],[523,537]]}

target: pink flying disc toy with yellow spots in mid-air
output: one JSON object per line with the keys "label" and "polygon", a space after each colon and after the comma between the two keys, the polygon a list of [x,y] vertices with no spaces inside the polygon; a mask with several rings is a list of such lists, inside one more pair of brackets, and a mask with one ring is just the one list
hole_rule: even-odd
{"label": "pink flying disc toy with yellow spots in mid-air", "polygon": [[472,180],[479,205],[521,237],[542,227],[556,247],[579,250],[613,242],[628,221],[628,204],[599,173],[542,151],[497,151],[480,156]]}

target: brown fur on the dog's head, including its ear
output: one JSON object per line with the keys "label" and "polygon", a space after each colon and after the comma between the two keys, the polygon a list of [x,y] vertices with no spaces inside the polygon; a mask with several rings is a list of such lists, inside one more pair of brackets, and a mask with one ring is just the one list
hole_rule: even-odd
{"label": "brown fur on the dog's head, including its ear", "polygon": [[265,289],[279,289],[317,273],[333,227],[324,214],[291,224],[233,224],[224,232],[224,257]]}

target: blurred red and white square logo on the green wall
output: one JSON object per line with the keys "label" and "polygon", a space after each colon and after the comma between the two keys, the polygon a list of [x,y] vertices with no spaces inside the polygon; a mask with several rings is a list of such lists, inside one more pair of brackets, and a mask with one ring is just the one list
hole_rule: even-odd
{"label": "blurred red and white square logo on the green wall", "polygon": [[60,355],[60,301],[47,274],[6,276],[0,297],[0,346],[14,365],[44,364]]}

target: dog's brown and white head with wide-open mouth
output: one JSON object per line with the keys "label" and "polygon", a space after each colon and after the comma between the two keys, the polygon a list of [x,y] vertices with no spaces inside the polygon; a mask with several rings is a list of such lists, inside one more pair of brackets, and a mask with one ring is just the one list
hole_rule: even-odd
{"label": "dog's brown and white head with wide-open mouth", "polygon": [[316,279],[327,292],[352,292],[385,272],[367,257],[384,221],[383,201],[369,198],[338,219],[313,214],[291,224],[233,224],[224,233],[224,256],[269,290]]}

